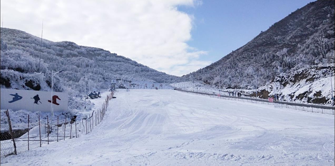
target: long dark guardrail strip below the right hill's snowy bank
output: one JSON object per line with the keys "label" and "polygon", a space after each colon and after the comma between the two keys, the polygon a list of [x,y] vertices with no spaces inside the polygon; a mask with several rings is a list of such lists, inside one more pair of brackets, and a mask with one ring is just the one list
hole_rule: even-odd
{"label": "long dark guardrail strip below the right hill's snowy bank", "polygon": [[[187,90],[182,90],[182,89],[178,89],[178,88],[176,88],[175,90],[183,91],[183,92],[203,94],[203,95],[209,95],[209,96],[219,96],[219,97],[227,97],[227,98],[245,99],[245,100],[261,101],[261,102],[268,102],[269,103],[269,101],[265,100],[265,99],[255,99],[255,98],[248,98],[248,97],[236,97],[236,96],[203,93],[203,92],[193,92],[193,91],[187,91]],[[335,110],[335,107],[332,107],[332,106],[322,106],[322,105],[313,105],[313,104],[304,104],[304,103],[291,103],[291,102],[283,102],[283,101],[273,101],[273,103],[294,105],[294,106],[301,106],[301,107],[312,107],[312,108],[333,109],[333,110]]]}

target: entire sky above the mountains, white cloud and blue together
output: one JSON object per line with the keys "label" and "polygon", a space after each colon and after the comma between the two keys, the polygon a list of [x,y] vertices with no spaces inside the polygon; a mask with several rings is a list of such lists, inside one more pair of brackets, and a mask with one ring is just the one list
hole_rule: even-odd
{"label": "entire sky above the mountains, white cloud and blue together", "polygon": [[[5,28],[72,41],[182,76],[219,60],[311,0],[0,0]],[[3,17],[3,19],[2,19]]]}

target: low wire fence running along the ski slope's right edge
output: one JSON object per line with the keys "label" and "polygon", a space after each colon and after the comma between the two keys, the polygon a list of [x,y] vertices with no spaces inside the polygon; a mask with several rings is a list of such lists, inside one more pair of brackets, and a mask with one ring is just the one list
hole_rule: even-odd
{"label": "low wire fence running along the ski slope's right edge", "polygon": [[267,105],[274,105],[275,107],[281,108],[289,108],[295,110],[302,110],[307,112],[316,112],[322,114],[332,114],[334,115],[334,107],[331,106],[320,106],[314,104],[303,104],[303,103],[293,103],[293,102],[282,102],[282,101],[274,101],[269,102],[268,100],[264,99],[256,99],[256,98],[248,98],[248,97],[236,97],[236,96],[227,96],[227,95],[217,95],[217,94],[210,94],[210,93],[203,93],[203,92],[194,92],[194,91],[187,91],[176,89],[181,92],[198,94],[198,95],[205,95],[215,98],[227,99],[227,100],[237,100],[237,101],[245,101],[250,103],[258,103],[258,104],[267,104]]}

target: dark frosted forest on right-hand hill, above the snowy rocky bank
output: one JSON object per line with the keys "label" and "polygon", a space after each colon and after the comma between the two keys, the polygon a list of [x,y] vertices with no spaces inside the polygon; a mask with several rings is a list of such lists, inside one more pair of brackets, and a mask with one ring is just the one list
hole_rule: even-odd
{"label": "dark frosted forest on right-hand hill, above the snowy rocky bank", "polygon": [[220,80],[222,88],[254,89],[257,84],[260,87],[289,77],[298,69],[333,63],[334,1],[320,0],[297,9],[246,45],[184,77],[215,86]]}

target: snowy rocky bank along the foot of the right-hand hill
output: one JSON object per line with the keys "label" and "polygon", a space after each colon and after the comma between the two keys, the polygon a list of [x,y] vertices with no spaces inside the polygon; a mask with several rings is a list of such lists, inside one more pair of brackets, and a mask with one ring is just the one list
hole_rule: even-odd
{"label": "snowy rocky bank along the foot of the right-hand hill", "polygon": [[[332,77],[332,82],[334,82],[334,77]],[[282,87],[280,83],[275,82],[271,83],[269,85],[260,87],[258,89],[258,94],[262,94],[260,90],[266,90],[269,92],[269,96],[272,96],[274,94],[279,94],[279,100],[285,101],[285,102],[291,102],[291,103],[304,103],[304,104],[314,104],[314,105],[324,105],[324,106],[331,106],[331,81],[330,77],[318,79],[314,82],[306,82],[306,79],[303,79],[300,81],[301,83],[297,84],[289,84],[286,87]],[[185,82],[178,82],[178,83],[172,83],[170,84],[174,88],[180,88],[182,90],[186,91],[193,91],[193,92],[203,92],[203,93],[210,93],[210,94],[218,94],[226,95],[228,96],[232,92],[237,93],[240,92],[242,97],[250,97],[252,94],[254,95],[251,98],[255,98],[255,89],[219,89],[215,86],[211,86],[208,84],[205,84],[201,81],[185,81]],[[306,92],[306,93],[305,93]],[[309,93],[307,93],[309,92]],[[299,98],[299,94],[307,94],[307,97],[301,97]],[[320,96],[315,96],[317,93],[320,93]],[[292,98],[290,97],[292,96]],[[327,100],[326,103],[321,104],[315,104],[311,103],[309,100],[316,100],[317,98],[321,99],[325,97],[324,100]],[[259,97],[260,98],[260,97]],[[263,98],[264,99],[264,98]],[[267,96],[266,98],[267,99]]]}

